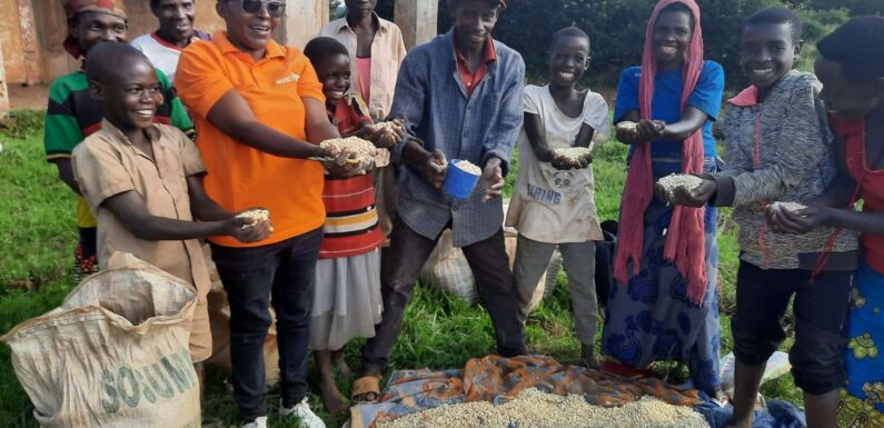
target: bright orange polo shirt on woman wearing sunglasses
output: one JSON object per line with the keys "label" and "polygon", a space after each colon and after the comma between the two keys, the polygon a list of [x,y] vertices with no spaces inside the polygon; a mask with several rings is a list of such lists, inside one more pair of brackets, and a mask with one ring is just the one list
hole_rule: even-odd
{"label": "bright orange polo shirt on woman wearing sunglasses", "polygon": [[212,237],[227,247],[279,242],[320,228],[324,171],[319,162],[280,158],[239,142],[206,118],[229,90],[236,89],[258,121],[299,140],[307,140],[302,98],[325,104],[322,84],[301,51],[272,40],[259,61],[239,51],[219,31],[211,41],[197,41],[181,52],[175,86],[199,130],[197,147],[209,173],[207,193],[237,212],[251,207],[270,211],[274,233],[255,243]]}

